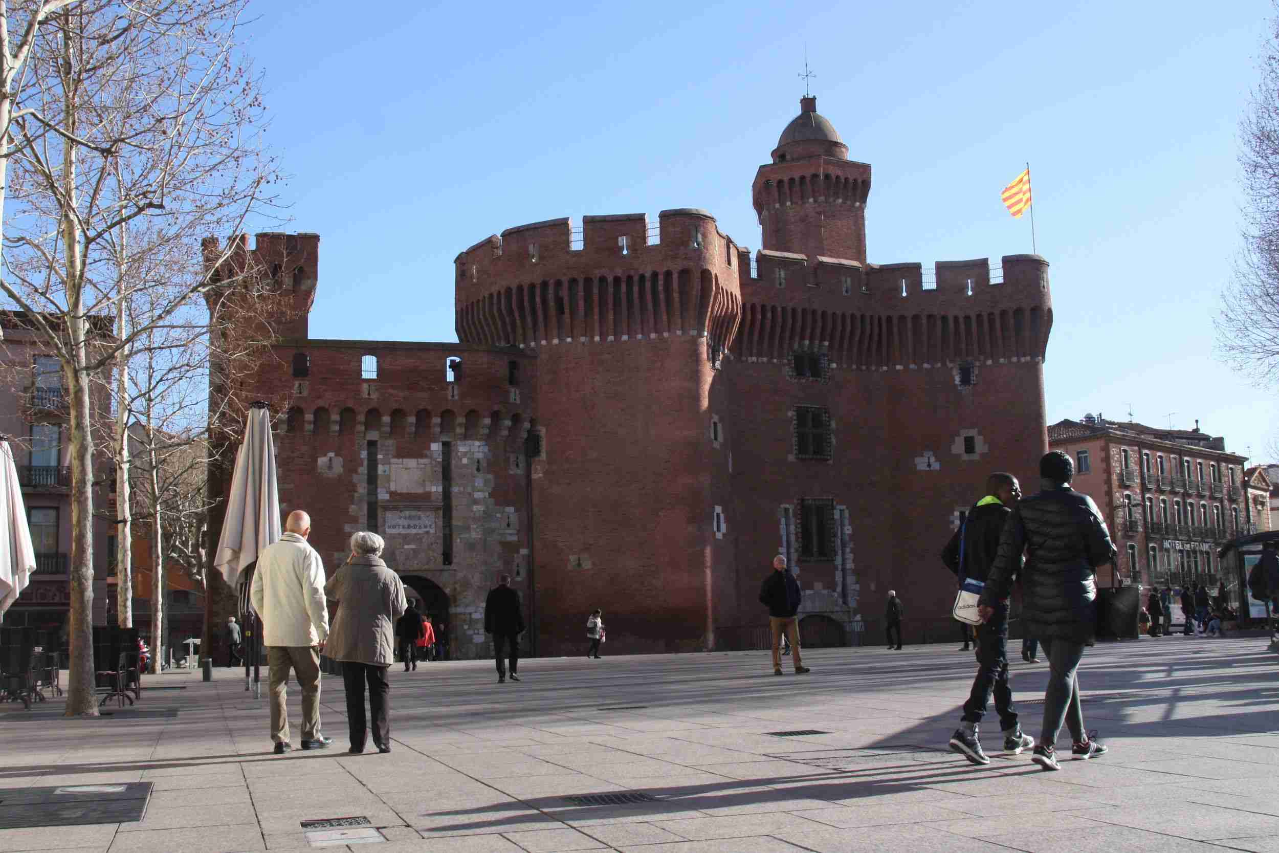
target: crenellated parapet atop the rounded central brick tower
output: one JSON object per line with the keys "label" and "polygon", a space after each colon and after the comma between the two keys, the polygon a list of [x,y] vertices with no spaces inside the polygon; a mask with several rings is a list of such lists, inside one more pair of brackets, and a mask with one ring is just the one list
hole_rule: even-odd
{"label": "crenellated parapet atop the rounded central brick tower", "polygon": [[737,327],[739,247],[703,210],[586,216],[519,225],[459,253],[457,333],[464,343],[554,347],[709,339]]}

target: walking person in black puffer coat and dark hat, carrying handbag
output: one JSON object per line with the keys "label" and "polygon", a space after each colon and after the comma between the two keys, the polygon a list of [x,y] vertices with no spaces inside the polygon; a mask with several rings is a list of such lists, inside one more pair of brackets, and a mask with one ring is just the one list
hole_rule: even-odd
{"label": "walking person in black puffer coat and dark hat, carrying handbag", "polygon": [[1113,563],[1117,549],[1097,505],[1071,489],[1071,457],[1059,450],[1045,454],[1040,478],[1042,490],[1019,503],[1004,523],[980,613],[993,619],[1021,577],[1023,619],[1049,659],[1044,728],[1032,760],[1044,770],[1060,770],[1055,744],[1063,723],[1074,740],[1076,760],[1106,752],[1096,733],[1083,728],[1077,670],[1096,636],[1097,567]]}

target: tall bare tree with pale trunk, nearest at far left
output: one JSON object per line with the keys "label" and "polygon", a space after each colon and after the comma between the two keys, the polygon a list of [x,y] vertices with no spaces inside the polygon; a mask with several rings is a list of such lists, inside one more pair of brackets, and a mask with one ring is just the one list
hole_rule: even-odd
{"label": "tall bare tree with pale trunk, nearest at far left", "polygon": [[[27,311],[63,366],[72,469],[72,618],[67,714],[95,715],[93,421],[113,367],[210,286],[200,238],[269,214],[278,180],[258,147],[258,81],[239,55],[247,0],[77,0],[32,38],[26,113],[14,113],[0,292]],[[46,4],[49,5],[49,4]],[[124,225],[150,237],[166,275],[119,275]],[[129,257],[139,251],[128,246]],[[145,266],[145,265],[143,265]],[[246,270],[246,286],[256,272]],[[226,286],[223,283],[223,286]],[[130,329],[120,301],[143,301]],[[116,384],[116,394],[119,394]],[[119,460],[116,460],[119,462]],[[128,480],[127,477],[124,478]],[[118,483],[119,486],[119,483]],[[125,538],[125,537],[120,537]]]}

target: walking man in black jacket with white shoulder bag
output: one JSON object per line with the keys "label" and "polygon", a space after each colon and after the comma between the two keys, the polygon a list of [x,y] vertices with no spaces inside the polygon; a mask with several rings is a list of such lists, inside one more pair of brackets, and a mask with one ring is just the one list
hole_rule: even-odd
{"label": "walking man in black jacket with white shoulder bag", "polygon": [[[1012,508],[1021,497],[1022,487],[1017,477],[998,472],[986,478],[986,496],[968,510],[964,523],[941,550],[941,561],[955,573],[961,584],[966,579],[986,582],[990,564],[995,561],[999,550],[1004,522],[1013,514]],[[1008,684],[1008,599],[1001,599],[993,615],[977,627],[977,677],[972,682],[968,701],[963,703],[959,728],[950,735],[950,748],[975,765],[990,763],[990,758],[981,751],[978,733],[991,692],[995,693],[999,728],[1004,733],[1004,751],[1018,755],[1035,743],[1022,734],[1017,708],[1013,706],[1013,691]]]}

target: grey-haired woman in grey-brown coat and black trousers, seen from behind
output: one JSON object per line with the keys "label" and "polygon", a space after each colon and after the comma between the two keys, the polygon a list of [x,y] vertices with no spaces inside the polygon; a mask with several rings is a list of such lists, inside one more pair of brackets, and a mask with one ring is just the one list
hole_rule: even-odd
{"label": "grey-haired woman in grey-brown coat and black trousers, seen from behind", "polygon": [[325,595],[338,602],[325,652],[341,661],[353,753],[365,751],[366,683],[373,746],[379,752],[391,751],[386,669],[395,660],[395,620],[408,609],[408,601],[399,575],[382,563],[385,545],[377,533],[353,535],[350,559],[324,588]]}

